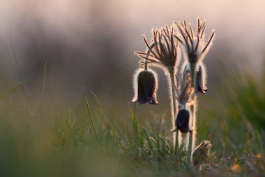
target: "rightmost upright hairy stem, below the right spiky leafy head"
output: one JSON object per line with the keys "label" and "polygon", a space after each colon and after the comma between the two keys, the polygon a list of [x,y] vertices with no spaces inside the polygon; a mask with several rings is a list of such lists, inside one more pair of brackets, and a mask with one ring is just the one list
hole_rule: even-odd
{"label": "rightmost upright hairy stem, below the right spiky leafy head", "polygon": [[[195,64],[191,64],[190,65],[190,71],[191,71],[191,78],[192,78],[192,88],[195,89],[195,82],[196,82],[196,65]],[[195,102],[196,102],[196,96],[195,93],[192,94],[192,104],[190,105],[190,113],[191,113],[191,117],[190,117],[190,127],[192,128],[192,131],[189,132],[189,137],[188,137],[188,159],[187,162],[188,164],[192,164],[192,154],[193,154],[193,150],[195,148],[195,132],[196,131],[196,109],[195,109]]]}

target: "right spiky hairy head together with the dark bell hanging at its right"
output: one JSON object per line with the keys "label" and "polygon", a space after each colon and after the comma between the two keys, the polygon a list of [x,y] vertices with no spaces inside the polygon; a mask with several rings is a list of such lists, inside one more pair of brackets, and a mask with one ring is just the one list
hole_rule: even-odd
{"label": "right spiky hairy head together with the dark bell hanging at its right", "polygon": [[[215,36],[215,31],[213,30],[207,42],[204,40],[206,22],[197,19],[197,32],[192,29],[192,25],[187,25],[185,20],[179,23],[176,23],[179,31],[181,32],[182,39],[179,36],[175,37],[183,46],[183,52],[185,61],[188,62],[190,69],[195,70],[195,74],[192,74],[192,80],[195,81],[195,93],[206,93],[206,69],[203,64],[203,59],[206,56],[207,52],[211,48],[213,39]],[[194,73],[194,71],[192,71]]]}

